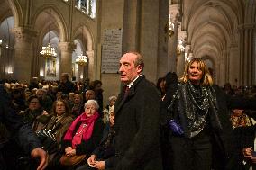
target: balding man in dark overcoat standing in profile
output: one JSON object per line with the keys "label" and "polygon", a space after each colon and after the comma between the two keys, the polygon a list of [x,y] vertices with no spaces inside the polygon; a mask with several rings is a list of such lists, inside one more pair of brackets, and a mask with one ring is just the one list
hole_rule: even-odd
{"label": "balding man in dark overcoat standing in profile", "polygon": [[161,170],[160,96],[142,75],[142,55],[129,52],[120,60],[124,84],[114,104],[116,170]]}

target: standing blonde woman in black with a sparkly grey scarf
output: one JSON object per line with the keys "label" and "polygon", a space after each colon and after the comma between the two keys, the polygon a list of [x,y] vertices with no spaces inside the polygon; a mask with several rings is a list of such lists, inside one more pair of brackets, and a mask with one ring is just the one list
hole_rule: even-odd
{"label": "standing blonde woman in black with a sparkly grey scarf", "polygon": [[235,107],[255,109],[255,101],[225,94],[214,85],[199,58],[193,58],[179,82],[172,85],[175,87],[169,87],[162,110],[170,130],[171,169],[225,169],[233,151],[228,111]]}

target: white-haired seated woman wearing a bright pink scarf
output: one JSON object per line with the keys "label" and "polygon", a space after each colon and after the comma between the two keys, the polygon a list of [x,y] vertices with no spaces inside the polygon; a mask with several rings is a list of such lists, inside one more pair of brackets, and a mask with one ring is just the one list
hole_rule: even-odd
{"label": "white-haired seated woman wearing a bright pink scarf", "polygon": [[59,157],[60,165],[52,169],[75,169],[86,162],[85,159],[76,166],[67,166],[62,157],[90,156],[92,151],[98,146],[104,129],[104,123],[99,118],[99,113],[97,112],[98,108],[96,100],[88,100],[85,103],[85,112],[72,122],[62,140],[61,158]]}

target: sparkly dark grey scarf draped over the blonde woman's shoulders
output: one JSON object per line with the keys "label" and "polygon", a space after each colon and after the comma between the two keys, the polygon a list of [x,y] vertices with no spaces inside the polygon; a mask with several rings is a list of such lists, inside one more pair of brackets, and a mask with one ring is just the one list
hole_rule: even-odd
{"label": "sparkly dark grey scarf draped over the blonde woman's shoulders", "polygon": [[207,116],[209,121],[216,121],[221,126],[217,117],[217,102],[215,90],[209,85],[179,84],[178,98],[183,103],[179,104],[187,124],[187,136],[195,137],[206,126]]}

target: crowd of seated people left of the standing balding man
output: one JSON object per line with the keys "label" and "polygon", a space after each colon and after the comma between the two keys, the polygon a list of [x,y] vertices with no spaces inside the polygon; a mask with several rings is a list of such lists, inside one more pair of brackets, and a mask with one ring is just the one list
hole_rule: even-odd
{"label": "crowd of seated people left of the standing balding man", "polygon": [[[42,147],[50,156],[48,169],[75,169],[87,163],[87,158],[99,144],[105,127],[102,109],[98,104],[103,103],[103,97],[101,97],[103,90],[98,86],[99,82],[91,83],[96,87],[87,86],[86,88],[81,83],[69,82],[69,87],[73,85],[74,88],[66,88],[63,80],[40,82],[36,78],[33,78],[32,85],[4,82],[8,93],[12,96],[14,109],[23,117],[24,123],[31,126],[32,130],[39,135],[39,139],[43,132],[49,132],[53,136],[55,143],[51,148],[44,147],[47,140],[41,140]],[[65,93],[60,91],[61,88],[65,89]],[[96,101],[96,94],[100,101]],[[81,136],[81,133],[84,135]],[[8,133],[6,133],[7,136],[9,136]],[[10,157],[13,155],[8,154]],[[86,157],[78,165],[67,166],[65,161],[63,164],[59,162],[65,155],[69,157],[85,155]],[[9,157],[5,159],[11,162]],[[15,168],[19,169],[21,166]],[[15,168],[10,166],[10,169],[15,170]]]}

